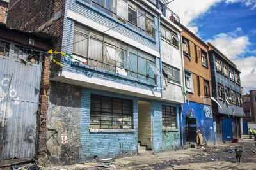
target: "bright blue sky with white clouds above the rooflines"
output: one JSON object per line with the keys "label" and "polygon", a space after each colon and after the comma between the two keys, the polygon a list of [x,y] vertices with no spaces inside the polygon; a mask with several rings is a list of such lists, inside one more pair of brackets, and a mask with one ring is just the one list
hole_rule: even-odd
{"label": "bright blue sky with white clouds above the rooflines", "polygon": [[256,89],[256,0],[175,0],[169,7],[236,64],[244,93]]}

